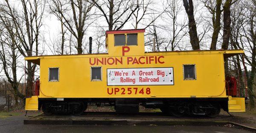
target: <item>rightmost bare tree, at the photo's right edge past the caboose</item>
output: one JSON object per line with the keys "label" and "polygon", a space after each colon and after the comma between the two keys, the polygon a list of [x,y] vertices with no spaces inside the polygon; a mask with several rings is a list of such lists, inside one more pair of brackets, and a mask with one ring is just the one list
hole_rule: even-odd
{"label": "rightmost bare tree, at the photo's right edge past the caboose", "polygon": [[[256,0],[246,0],[240,4],[242,4],[239,5],[239,13],[241,14],[238,14],[240,16],[236,19],[237,24],[233,25],[235,23],[232,23],[230,42],[233,46],[236,44],[237,48],[244,49],[245,51],[245,63],[251,68],[250,74],[245,69],[247,73],[248,95],[250,107],[254,108],[256,99],[254,94],[256,74]],[[234,22],[234,19],[231,20]],[[236,48],[236,46],[234,47]],[[243,58],[241,59],[243,60]]]}

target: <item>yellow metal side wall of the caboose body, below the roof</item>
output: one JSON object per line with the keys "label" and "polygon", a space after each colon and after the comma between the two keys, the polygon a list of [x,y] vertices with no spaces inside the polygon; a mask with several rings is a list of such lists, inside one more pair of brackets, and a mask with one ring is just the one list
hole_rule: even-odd
{"label": "yellow metal side wall of the caboose body, below the roof", "polygon": [[[121,53],[121,52],[119,52]],[[130,53],[129,53],[130,54]],[[90,81],[89,58],[92,55],[44,57],[41,59],[40,97],[225,97],[223,54],[189,52],[179,54],[157,53],[163,55],[164,64],[128,65],[123,56],[122,65],[93,65],[102,67],[102,81]],[[146,53],[146,56],[157,55]],[[141,55],[141,56],[145,56]],[[93,55],[95,57],[113,57]],[[131,56],[139,57],[139,56]],[[196,65],[196,80],[183,80],[183,64]],[[48,82],[49,68],[59,67],[59,82]],[[107,86],[107,68],[155,68],[173,67],[174,85]],[[151,94],[108,95],[107,88],[138,87],[151,89]]]}

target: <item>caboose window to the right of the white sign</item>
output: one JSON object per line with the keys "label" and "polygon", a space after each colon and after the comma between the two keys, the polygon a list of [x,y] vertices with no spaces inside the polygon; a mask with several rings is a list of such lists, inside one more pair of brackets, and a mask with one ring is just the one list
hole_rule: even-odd
{"label": "caboose window to the right of the white sign", "polygon": [[195,65],[183,65],[183,79],[184,80],[195,80]]}

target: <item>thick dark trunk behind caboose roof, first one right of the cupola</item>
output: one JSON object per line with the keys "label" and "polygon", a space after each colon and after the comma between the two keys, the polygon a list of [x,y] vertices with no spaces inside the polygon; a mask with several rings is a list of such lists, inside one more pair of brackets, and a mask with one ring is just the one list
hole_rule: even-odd
{"label": "thick dark trunk behind caboose roof, first one right of the cupola", "polygon": [[192,45],[193,50],[200,49],[199,45],[199,39],[197,34],[197,28],[195,23],[195,17],[194,17],[194,6],[192,0],[183,0],[183,6],[185,7],[186,14],[189,18],[189,37],[190,37],[190,43]]}

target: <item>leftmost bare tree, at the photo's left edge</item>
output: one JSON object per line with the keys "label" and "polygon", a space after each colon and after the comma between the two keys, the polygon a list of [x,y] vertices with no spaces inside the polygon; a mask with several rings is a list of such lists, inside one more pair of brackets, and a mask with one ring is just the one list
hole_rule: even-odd
{"label": "leftmost bare tree, at the photo's left edge", "polygon": [[[1,6],[0,10],[5,9],[6,7]],[[25,96],[19,91],[20,79],[17,77],[17,64],[18,57],[20,53],[17,46],[20,41],[17,37],[17,31],[15,30],[15,24],[8,17],[6,12],[0,13],[0,62],[3,66],[3,71],[7,81],[10,83],[11,88],[7,86],[10,92],[14,95],[15,105],[19,104],[18,98],[24,102]],[[2,79],[5,81],[5,79]],[[6,81],[5,81],[6,82]]]}

